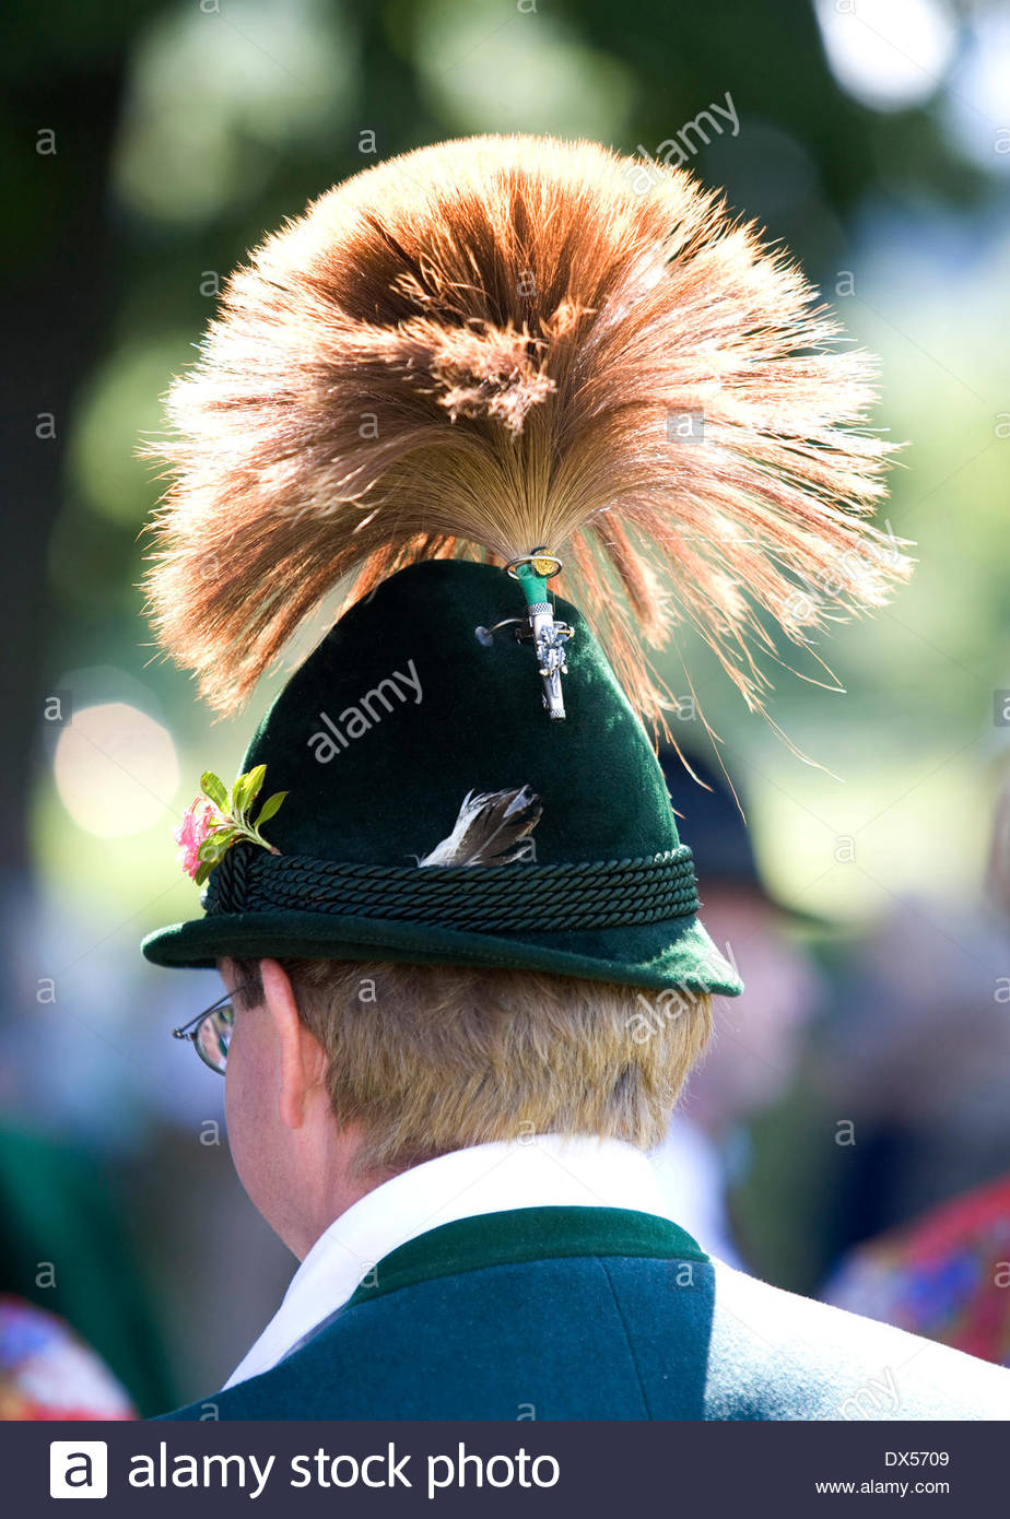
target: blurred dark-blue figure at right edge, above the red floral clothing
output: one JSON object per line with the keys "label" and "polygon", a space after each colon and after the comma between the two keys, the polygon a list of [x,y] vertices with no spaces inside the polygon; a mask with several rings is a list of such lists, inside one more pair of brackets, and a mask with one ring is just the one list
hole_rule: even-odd
{"label": "blurred dark-blue figure at right edge, above the red floral clothing", "polygon": [[1005,924],[978,904],[905,898],[832,987],[819,1054],[838,1147],[841,1246],[998,1177],[1010,1154]]}

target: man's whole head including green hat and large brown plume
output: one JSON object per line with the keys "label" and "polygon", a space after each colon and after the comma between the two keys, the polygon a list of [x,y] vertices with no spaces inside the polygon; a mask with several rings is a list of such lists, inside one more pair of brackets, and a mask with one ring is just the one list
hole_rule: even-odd
{"label": "man's whole head including green hat and large brown plume", "polygon": [[[232,1141],[296,1247],[320,1198],[428,1154],[662,1135],[741,983],[639,720],[671,705],[645,650],[688,621],[761,708],[773,624],[805,646],[907,573],[867,523],[873,365],[838,337],[690,175],[553,138],[369,169],[228,281],[156,450],[161,646],[231,711],[348,603],[231,793],[202,776],[204,916],[144,954],[260,957]],[[529,855],[462,848],[519,794]]]}

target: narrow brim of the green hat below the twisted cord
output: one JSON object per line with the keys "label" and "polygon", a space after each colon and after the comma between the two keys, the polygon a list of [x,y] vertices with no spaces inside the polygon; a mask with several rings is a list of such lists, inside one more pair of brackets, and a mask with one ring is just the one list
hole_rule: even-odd
{"label": "narrow brim of the green hat below the twisted cord", "polygon": [[579,933],[495,936],[334,913],[222,913],[149,934],[152,965],[213,968],[219,958],[393,960],[548,971],[655,990],[737,996],[743,983],[697,917]]}

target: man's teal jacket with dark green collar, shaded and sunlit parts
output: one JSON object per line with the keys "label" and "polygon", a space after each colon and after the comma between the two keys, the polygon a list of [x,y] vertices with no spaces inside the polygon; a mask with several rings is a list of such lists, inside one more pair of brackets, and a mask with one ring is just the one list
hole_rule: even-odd
{"label": "man's teal jacket with dark green collar, shaded and sunlit parts", "polygon": [[618,1208],[393,1250],[272,1370],[169,1419],[1010,1419],[1010,1372],[758,1282]]}

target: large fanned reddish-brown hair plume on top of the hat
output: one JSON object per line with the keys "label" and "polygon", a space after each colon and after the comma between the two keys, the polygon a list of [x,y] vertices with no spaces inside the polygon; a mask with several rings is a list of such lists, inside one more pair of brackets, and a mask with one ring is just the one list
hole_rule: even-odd
{"label": "large fanned reddish-brown hair plume on top of the hat", "polygon": [[[336,585],[544,545],[645,715],[690,623],[752,708],[881,606],[873,360],[690,173],[471,138],[336,187],[229,281],[147,453],[163,647],[220,711]],[[665,703],[668,705],[668,702]]]}

